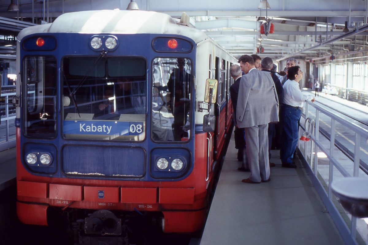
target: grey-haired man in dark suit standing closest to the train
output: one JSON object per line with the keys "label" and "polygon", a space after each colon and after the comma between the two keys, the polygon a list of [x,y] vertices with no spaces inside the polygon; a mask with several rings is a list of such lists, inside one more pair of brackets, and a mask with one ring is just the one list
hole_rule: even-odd
{"label": "grey-haired man in dark suit standing closest to the train", "polygon": [[239,84],[241,79],[241,68],[238,65],[232,65],[230,67],[231,77],[234,79],[233,85],[230,86],[230,96],[231,102],[233,104],[234,110],[234,140],[235,148],[238,149],[238,161],[241,161],[241,167],[238,167],[239,171],[249,172],[249,165],[247,159],[247,153],[245,151],[245,139],[244,139],[244,129],[240,129],[236,125],[236,104],[238,101]]}

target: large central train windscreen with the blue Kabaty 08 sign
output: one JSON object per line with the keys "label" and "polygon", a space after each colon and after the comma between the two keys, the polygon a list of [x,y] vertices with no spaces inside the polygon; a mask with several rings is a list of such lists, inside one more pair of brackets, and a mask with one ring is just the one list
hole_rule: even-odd
{"label": "large central train windscreen with the blue Kabaty 08 sign", "polygon": [[62,60],[64,138],[144,140],[146,60],[97,59]]}

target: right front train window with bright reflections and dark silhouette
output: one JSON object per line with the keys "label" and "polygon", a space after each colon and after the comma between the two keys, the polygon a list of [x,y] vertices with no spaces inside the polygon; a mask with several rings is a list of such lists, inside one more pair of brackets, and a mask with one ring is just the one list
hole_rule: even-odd
{"label": "right front train window with bright reflections and dark silhouette", "polygon": [[152,70],[152,140],[189,140],[191,61],[184,58],[156,58]]}

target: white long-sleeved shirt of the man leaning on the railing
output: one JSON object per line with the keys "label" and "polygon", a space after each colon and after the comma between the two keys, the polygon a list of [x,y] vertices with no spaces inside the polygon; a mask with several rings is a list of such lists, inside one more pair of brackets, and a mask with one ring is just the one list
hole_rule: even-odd
{"label": "white long-sleeved shirt of the man leaning on the railing", "polygon": [[282,86],[284,88],[284,100],[283,104],[291,105],[294,107],[303,107],[303,102],[312,100],[313,96],[309,94],[303,94],[299,89],[299,83],[295,80],[289,80]]}

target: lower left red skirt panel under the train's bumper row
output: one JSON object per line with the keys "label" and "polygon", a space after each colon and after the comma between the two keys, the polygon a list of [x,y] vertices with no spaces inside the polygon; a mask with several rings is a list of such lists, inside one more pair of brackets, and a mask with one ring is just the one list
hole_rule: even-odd
{"label": "lower left red skirt panel under the train's bumper row", "polygon": [[49,205],[17,202],[17,215],[22,223],[47,226],[46,210],[48,207]]}

